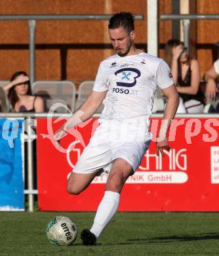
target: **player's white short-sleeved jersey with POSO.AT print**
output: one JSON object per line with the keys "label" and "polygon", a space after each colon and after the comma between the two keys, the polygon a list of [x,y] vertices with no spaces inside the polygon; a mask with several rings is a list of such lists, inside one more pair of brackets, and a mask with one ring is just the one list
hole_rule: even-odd
{"label": "player's white short-sleeved jersey with POSO.AT print", "polygon": [[148,123],[157,86],[174,83],[169,66],[147,53],[121,57],[115,54],[100,63],[93,91],[108,91],[100,121]]}

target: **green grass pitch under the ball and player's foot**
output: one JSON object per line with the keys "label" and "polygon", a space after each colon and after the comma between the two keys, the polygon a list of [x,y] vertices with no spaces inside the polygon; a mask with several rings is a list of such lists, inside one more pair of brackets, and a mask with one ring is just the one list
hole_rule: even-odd
{"label": "green grass pitch under the ball and player's foot", "polygon": [[[79,234],[70,247],[50,244],[45,227],[55,216],[71,217]],[[79,238],[95,213],[0,213],[0,255],[219,255],[219,213],[118,212],[98,240]]]}

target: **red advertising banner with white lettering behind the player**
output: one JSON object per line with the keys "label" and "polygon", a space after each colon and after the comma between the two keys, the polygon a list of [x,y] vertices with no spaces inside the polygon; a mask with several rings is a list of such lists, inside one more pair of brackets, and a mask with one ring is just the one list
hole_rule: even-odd
{"label": "red advertising banner with white lettering behind the player", "polygon": [[[52,119],[54,121],[54,119]],[[50,120],[51,121],[51,120]],[[51,121],[52,123],[52,121]],[[161,119],[151,119],[156,136]],[[77,127],[75,137],[67,135],[57,150],[49,139],[48,120],[37,119],[37,179],[42,211],[96,211],[104,195],[107,176],[96,177],[79,196],[66,191],[68,177],[85,145],[98,126],[92,119]],[[54,131],[60,122],[52,123]],[[170,152],[155,155],[151,142],[136,173],[121,193],[119,211],[219,211],[219,120],[175,119],[169,131]],[[75,139],[76,138],[76,139]],[[85,146],[84,145],[84,146]]]}

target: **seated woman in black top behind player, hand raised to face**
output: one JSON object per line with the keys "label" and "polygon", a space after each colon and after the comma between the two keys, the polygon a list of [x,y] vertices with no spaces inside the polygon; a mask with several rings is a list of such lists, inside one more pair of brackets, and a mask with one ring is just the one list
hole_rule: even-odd
{"label": "seated woman in black top behind player, hand raised to face", "polygon": [[167,42],[165,60],[180,95],[177,113],[203,113],[205,95],[199,90],[199,62],[188,56],[184,43],[177,39]]}

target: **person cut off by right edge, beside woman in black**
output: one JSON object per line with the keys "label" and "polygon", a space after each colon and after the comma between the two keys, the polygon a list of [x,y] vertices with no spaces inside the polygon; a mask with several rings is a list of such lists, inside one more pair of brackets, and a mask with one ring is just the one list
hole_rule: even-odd
{"label": "person cut off by right edge, beside woman in black", "polygon": [[[218,82],[219,79],[219,58],[214,62],[212,67],[207,70],[205,73],[205,81],[207,82],[207,87],[205,91],[205,95],[207,96],[209,104],[205,106],[205,113],[216,112],[219,113],[219,102],[218,102]],[[214,106],[216,109],[214,109]]]}

